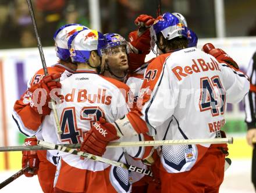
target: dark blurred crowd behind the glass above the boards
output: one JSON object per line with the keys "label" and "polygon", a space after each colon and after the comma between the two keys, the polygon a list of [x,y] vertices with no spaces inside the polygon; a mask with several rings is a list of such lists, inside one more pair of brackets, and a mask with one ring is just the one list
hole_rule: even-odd
{"label": "dark blurred crowd behind the glass above the boards", "polygon": [[[52,46],[57,28],[65,23],[90,27],[90,0],[32,0],[42,45]],[[140,14],[156,16],[156,0],[99,0],[102,33],[127,37]],[[256,35],[255,0],[225,0],[226,37]],[[162,0],[162,12],[182,13],[199,38],[216,37],[214,0]],[[36,47],[26,0],[0,1],[0,49]]]}

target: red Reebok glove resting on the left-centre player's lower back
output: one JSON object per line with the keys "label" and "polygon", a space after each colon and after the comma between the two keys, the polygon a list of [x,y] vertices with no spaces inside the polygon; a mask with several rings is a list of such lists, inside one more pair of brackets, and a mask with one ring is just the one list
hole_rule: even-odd
{"label": "red Reebok glove resting on the left-centre player's lower back", "polygon": [[108,142],[118,139],[116,128],[101,117],[84,136],[80,150],[93,155],[102,156],[106,151]]}

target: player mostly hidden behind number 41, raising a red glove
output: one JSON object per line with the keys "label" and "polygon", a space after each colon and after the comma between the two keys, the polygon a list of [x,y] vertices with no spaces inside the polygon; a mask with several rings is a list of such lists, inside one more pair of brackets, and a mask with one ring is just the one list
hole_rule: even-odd
{"label": "player mostly hidden behind number 41, raising a red glove", "polygon": [[[180,13],[173,13],[175,16],[179,19],[179,22],[184,24],[187,27],[187,22],[186,19],[180,14]],[[151,62],[149,60],[148,62],[143,62],[145,60],[145,55],[142,53],[149,53],[150,52],[150,47],[151,47],[151,37],[150,37],[150,27],[152,24],[154,24],[155,19],[152,16],[148,15],[140,15],[136,18],[134,23],[138,26],[138,31],[132,32],[129,34],[130,36],[130,42],[129,44],[132,51],[137,51],[136,53],[141,53],[141,54],[136,54],[136,53],[130,53],[131,56],[129,59],[129,64],[131,63],[131,67],[129,65],[129,68],[131,70],[129,71],[127,75],[127,80],[126,84],[129,85],[131,91],[134,94],[134,103],[136,103],[138,99],[138,94],[140,92],[140,87],[143,83],[144,80],[144,73],[147,69],[148,64]],[[191,38],[189,38],[189,47],[197,47],[197,35],[192,31],[189,30]],[[136,35],[134,35],[136,34]],[[139,34],[139,35],[137,35]],[[141,40],[142,39],[142,40]],[[154,46],[152,46],[154,47]],[[135,49],[136,48],[136,49]],[[142,50],[142,51],[141,51]],[[137,57],[136,57],[137,55]],[[141,59],[137,59],[135,61],[134,58],[138,58],[140,56]],[[140,63],[141,62],[141,63]],[[136,68],[133,70],[134,68]],[[159,126],[159,129],[161,127],[168,127],[171,119],[168,119],[163,123],[161,126]],[[161,139],[159,139],[161,140]],[[147,176],[143,176],[142,174],[134,173],[133,178],[134,180],[141,179],[137,181],[136,183],[133,184],[134,189],[140,190],[140,192],[158,192],[161,191],[159,186],[159,179],[158,179],[158,156],[154,155],[154,165],[151,166],[151,169],[154,171],[154,181],[152,181],[150,178]],[[139,161],[137,166],[143,167],[143,163],[139,164]],[[133,165],[136,165],[136,163],[133,163]],[[144,178],[142,178],[144,177]]]}

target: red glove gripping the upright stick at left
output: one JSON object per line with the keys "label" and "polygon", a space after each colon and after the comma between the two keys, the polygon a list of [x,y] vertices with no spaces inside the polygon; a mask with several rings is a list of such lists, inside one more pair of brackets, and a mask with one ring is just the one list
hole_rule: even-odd
{"label": "red glove gripping the upright stick at left", "polygon": [[48,102],[51,101],[50,92],[54,88],[61,88],[61,83],[59,83],[60,77],[61,74],[59,73],[43,77],[38,84],[34,84],[27,90],[26,94],[23,96],[23,102],[25,100],[30,102],[30,106],[38,114],[49,115],[51,113],[51,108],[48,106]]}

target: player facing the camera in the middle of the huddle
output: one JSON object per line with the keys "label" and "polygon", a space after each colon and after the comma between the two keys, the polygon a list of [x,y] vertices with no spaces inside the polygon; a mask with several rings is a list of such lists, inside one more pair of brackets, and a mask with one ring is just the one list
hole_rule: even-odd
{"label": "player facing the camera in the middle of the huddle", "polygon": [[[150,18],[150,17],[148,17],[148,18]],[[145,22],[145,20],[144,20],[144,22]],[[152,22],[154,22],[154,20]],[[126,75],[127,75],[128,65],[124,65],[124,63],[122,61],[127,60],[127,53],[128,53],[127,50],[132,45],[129,45],[130,42],[127,42],[125,40],[125,38],[123,38],[119,34],[109,33],[109,34],[104,34],[104,36],[106,38],[106,41],[108,42],[110,54],[108,55],[108,58],[106,60],[106,65],[105,65],[106,67],[105,67],[105,71],[103,74],[104,74],[104,76],[115,78],[116,80],[125,81],[127,78]],[[137,38],[140,38],[140,37],[137,37]],[[139,41],[139,40],[134,40],[133,42],[135,42],[135,41]],[[148,48],[148,49],[150,49],[150,48]],[[129,54],[130,54],[130,52],[129,52]],[[134,97],[133,94],[131,94],[131,96]],[[130,101],[130,103],[129,103],[130,108],[133,108],[134,104],[136,104],[136,103],[134,103],[134,100]],[[153,140],[153,138],[148,136],[147,134],[140,134],[139,140],[140,141]],[[152,149],[151,147],[146,147],[146,148],[140,147],[140,149],[139,149],[140,154],[138,154],[137,156],[133,156],[133,158],[131,156],[129,156],[129,154],[127,152],[125,152],[126,160],[127,160],[127,162],[129,162],[130,165],[134,165],[134,166],[146,169],[147,166],[144,165],[143,162],[141,162],[141,159],[144,159],[144,162],[148,163],[148,160],[147,161],[145,160],[144,155],[147,154],[147,152],[150,152],[151,149]],[[145,153],[143,153],[143,152],[145,152]],[[151,155],[151,153],[150,153],[150,155]],[[152,160],[152,158],[150,158],[150,160]],[[142,177],[144,177],[144,174],[139,174],[139,173],[136,173],[133,171],[131,172],[131,177],[132,177],[132,182],[133,182],[132,192],[147,192],[148,184],[151,184],[151,186],[150,186],[151,192],[155,192],[155,193],[157,192],[157,190],[155,188],[155,183],[154,183],[155,179],[154,178],[152,178],[150,176],[146,176],[145,179],[140,181],[140,179]],[[148,192],[149,192],[149,190],[148,190]]]}

